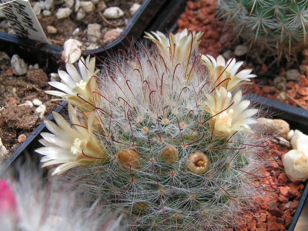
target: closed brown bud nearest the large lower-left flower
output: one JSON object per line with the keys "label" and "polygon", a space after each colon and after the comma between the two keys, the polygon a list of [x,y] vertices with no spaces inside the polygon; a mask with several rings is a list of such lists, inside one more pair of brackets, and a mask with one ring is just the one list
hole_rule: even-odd
{"label": "closed brown bud nearest the large lower-left flower", "polygon": [[139,154],[132,149],[122,149],[118,154],[118,160],[125,171],[136,170],[140,166]]}

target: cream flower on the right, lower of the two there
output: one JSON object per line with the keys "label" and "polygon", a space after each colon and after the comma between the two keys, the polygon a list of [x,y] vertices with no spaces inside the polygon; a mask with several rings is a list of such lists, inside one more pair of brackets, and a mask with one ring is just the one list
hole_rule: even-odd
{"label": "cream flower on the right, lower of the two there", "polygon": [[249,107],[249,100],[242,100],[242,91],[237,91],[233,96],[225,87],[215,89],[215,96],[204,93],[207,100],[203,102],[201,108],[211,115],[210,126],[214,129],[216,136],[229,136],[233,132],[243,131],[253,133],[249,124],[257,123],[251,118],[258,112],[256,108]]}

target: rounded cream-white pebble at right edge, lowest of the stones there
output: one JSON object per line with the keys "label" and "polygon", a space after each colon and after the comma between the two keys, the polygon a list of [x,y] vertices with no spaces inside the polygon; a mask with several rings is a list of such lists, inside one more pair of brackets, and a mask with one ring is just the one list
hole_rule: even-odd
{"label": "rounded cream-white pebble at right edge, lowest of the stones there", "polygon": [[308,158],[304,152],[292,149],[285,154],[282,163],[290,180],[307,180]]}

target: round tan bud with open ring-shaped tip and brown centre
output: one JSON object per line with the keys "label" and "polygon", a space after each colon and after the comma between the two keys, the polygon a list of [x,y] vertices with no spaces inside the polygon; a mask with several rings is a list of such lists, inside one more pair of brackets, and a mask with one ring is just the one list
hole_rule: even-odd
{"label": "round tan bud with open ring-shaped tip and brown centre", "polygon": [[187,158],[188,171],[203,174],[209,170],[209,158],[203,152],[194,152]]}

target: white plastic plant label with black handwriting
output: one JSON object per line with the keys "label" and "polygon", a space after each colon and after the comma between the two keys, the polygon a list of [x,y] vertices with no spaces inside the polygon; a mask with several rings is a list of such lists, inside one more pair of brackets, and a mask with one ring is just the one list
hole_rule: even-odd
{"label": "white plastic plant label with black handwriting", "polygon": [[28,0],[16,0],[14,2],[0,0],[0,4],[5,2],[10,3],[7,3],[7,7],[1,10],[18,37],[48,43],[42,26]]}

